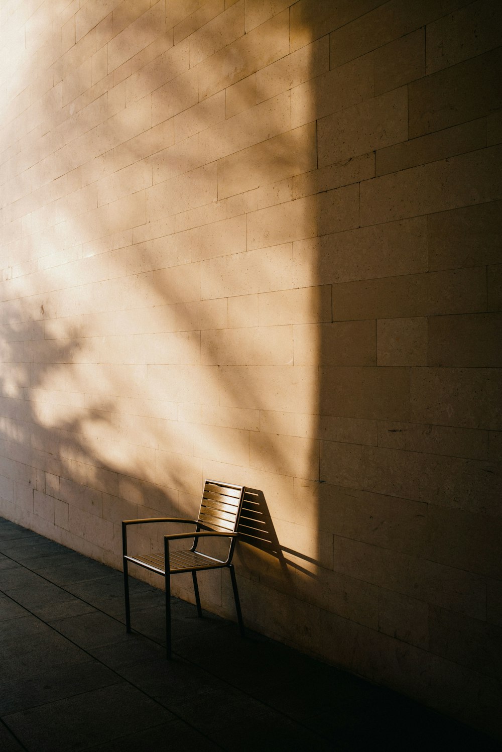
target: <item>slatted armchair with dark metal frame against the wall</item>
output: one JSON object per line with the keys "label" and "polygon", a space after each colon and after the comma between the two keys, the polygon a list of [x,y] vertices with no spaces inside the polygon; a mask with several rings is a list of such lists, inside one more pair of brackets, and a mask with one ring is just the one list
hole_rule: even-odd
{"label": "slatted armchair with dark metal frame against the wall", "polygon": [[[198,594],[197,572],[204,569],[219,569],[228,567],[231,584],[234,590],[235,608],[241,635],[244,634],[242,613],[240,611],[239,593],[235,579],[234,566],[231,558],[237,539],[240,509],[246,488],[233,486],[219,481],[205,481],[202,493],[201,508],[197,520],[179,519],[177,517],[153,517],[143,520],[123,520],[122,522],[122,556],[124,562],[124,592],[126,599],[126,629],[131,632],[131,613],[129,601],[129,562],[156,572],[165,578],[165,634],[167,656],[171,658],[171,575],[180,572],[192,572],[193,588],[197,612],[202,616],[201,599]],[[163,553],[150,553],[134,556],[127,551],[127,528],[129,525],[148,525],[153,523],[191,523],[195,525],[195,532],[174,533],[164,536]],[[187,550],[170,550],[171,541],[193,538],[192,545]],[[207,553],[197,550],[201,538],[229,538],[228,554],[224,559],[216,559]],[[168,562],[168,566],[166,566]]]}

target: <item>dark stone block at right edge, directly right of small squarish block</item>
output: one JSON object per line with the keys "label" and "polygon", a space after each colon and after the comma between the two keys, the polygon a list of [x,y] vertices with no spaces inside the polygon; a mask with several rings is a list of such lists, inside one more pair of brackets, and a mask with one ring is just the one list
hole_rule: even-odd
{"label": "dark stone block at right edge, directly right of small squarish block", "polygon": [[428,321],[429,365],[500,367],[501,327],[502,314],[431,317]]}

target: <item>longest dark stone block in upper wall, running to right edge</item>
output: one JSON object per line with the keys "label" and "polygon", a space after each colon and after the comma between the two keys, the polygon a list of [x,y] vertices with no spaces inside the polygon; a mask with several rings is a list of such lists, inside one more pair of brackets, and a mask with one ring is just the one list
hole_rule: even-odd
{"label": "longest dark stone block in upper wall, running to right edge", "polygon": [[500,146],[431,162],[361,183],[361,224],[371,225],[419,214],[500,199],[494,165]]}

